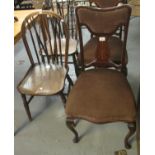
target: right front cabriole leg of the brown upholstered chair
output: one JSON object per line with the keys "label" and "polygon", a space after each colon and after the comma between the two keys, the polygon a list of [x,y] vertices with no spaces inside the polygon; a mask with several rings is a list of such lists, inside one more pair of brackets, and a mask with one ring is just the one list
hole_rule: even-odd
{"label": "right front cabriole leg of the brown upholstered chair", "polygon": [[126,135],[124,142],[125,142],[125,147],[127,149],[130,149],[131,144],[129,143],[129,139],[136,131],[136,123],[135,122],[134,123],[128,123],[128,128],[129,128],[129,133]]}

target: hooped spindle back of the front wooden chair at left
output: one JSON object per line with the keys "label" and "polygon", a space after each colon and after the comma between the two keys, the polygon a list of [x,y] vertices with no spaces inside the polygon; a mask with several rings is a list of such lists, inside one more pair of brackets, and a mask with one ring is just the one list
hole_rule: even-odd
{"label": "hooped spindle back of the front wooden chair at left", "polygon": [[[61,38],[65,38],[65,58]],[[60,16],[50,11],[30,14],[22,24],[22,39],[31,65],[53,63],[67,67],[69,38],[67,25]]]}

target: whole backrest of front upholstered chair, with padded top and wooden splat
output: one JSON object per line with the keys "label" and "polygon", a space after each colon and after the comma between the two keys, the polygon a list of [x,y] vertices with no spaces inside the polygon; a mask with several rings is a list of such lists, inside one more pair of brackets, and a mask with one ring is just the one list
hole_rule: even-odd
{"label": "whole backrest of front upholstered chair, with padded top and wooden splat", "polygon": [[[115,67],[116,69],[122,70],[125,66],[126,42],[130,15],[131,7],[127,4],[120,7],[105,9],[82,6],[76,9],[82,70],[86,67],[83,53],[84,45],[82,26],[85,26],[92,36],[98,38],[94,60],[89,65],[96,67]],[[122,39],[123,48],[121,51],[121,63],[118,65],[109,60],[110,50],[107,41],[115,34],[120,26],[124,26],[124,36]]]}

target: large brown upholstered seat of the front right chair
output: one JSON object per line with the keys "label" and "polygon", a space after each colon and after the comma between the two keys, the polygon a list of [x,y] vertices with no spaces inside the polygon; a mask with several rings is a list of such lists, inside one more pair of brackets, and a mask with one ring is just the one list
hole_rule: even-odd
{"label": "large brown upholstered seat of the front right chair", "polygon": [[81,73],[66,105],[68,117],[94,123],[136,119],[131,88],[126,77],[116,70],[91,69]]}

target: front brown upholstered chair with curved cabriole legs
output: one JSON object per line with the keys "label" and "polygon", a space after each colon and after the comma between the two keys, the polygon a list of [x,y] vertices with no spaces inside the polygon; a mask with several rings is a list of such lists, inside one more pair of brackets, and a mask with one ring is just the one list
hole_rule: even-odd
{"label": "front brown upholstered chair with curved cabriole legs", "polygon": [[[74,142],[79,141],[75,121],[84,119],[93,123],[126,122],[129,133],[125,146],[130,148],[129,138],[136,130],[136,105],[134,95],[126,76],[126,43],[131,7],[124,5],[107,9],[78,7],[77,26],[80,39],[82,72],[73,86],[66,103],[66,124],[75,134]],[[109,41],[119,26],[124,26],[125,35],[121,42],[121,63],[111,61]],[[82,26],[96,36],[97,48],[94,58],[86,69]],[[91,51],[88,51],[91,52]]]}

